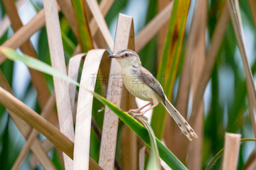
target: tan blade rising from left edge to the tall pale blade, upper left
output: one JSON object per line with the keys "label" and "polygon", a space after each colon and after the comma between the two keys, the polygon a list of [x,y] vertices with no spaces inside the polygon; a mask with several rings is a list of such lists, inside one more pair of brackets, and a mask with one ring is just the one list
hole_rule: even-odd
{"label": "tan blade rising from left edge to the tall pale blade, upper left", "polygon": [[[58,12],[60,8],[58,8]],[[25,41],[36,33],[38,30],[43,28],[45,25],[45,14],[44,9],[39,11],[36,16],[27,24],[22,26],[11,38],[7,39],[2,46],[17,49]],[[0,65],[6,60],[4,54],[0,53]]]}

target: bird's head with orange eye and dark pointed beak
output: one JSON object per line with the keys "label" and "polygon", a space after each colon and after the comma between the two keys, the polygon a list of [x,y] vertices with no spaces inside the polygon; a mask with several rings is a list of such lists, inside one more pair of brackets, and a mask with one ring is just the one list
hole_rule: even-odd
{"label": "bird's head with orange eye and dark pointed beak", "polygon": [[109,55],[108,57],[115,58],[122,67],[125,67],[125,66],[141,67],[139,55],[129,49],[120,50],[116,54]]}

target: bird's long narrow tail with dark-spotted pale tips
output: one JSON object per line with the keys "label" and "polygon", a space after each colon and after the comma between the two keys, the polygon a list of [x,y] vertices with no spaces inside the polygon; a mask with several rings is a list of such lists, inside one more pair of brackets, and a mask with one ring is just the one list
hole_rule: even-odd
{"label": "bird's long narrow tail with dark-spotted pale tips", "polygon": [[164,107],[170,113],[170,115],[173,117],[175,122],[179,125],[181,131],[184,133],[184,135],[188,137],[189,140],[192,140],[190,138],[190,135],[197,138],[196,133],[189,126],[188,122],[180,115],[180,113],[172,106],[172,103],[170,103],[167,99],[166,99],[166,105],[164,105]]}

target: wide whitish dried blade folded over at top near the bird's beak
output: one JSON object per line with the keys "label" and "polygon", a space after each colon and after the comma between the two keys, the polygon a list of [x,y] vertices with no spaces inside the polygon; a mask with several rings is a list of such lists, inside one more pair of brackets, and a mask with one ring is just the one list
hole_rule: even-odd
{"label": "wide whitish dried blade folded over at top near the bird's beak", "polygon": [[74,169],[88,169],[90,152],[90,133],[92,119],[92,101],[96,79],[91,78],[98,73],[102,57],[107,57],[109,53],[105,49],[90,50],[85,58],[83,72],[79,89],[77,113],[76,113],[76,133],[74,146]]}

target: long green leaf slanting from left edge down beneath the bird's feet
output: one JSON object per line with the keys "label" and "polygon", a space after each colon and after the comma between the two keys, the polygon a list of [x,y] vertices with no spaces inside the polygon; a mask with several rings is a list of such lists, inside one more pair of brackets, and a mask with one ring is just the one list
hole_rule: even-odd
{"label": "long green leaf slanting from left edge down beneath the bird's feet", "polygon": [[[27,55],[21,55],[17,53],[15,50],[8,47],[0,47],[0,51],[4,53],[4,55],[10,60],[20,60],[30,68],[36,69],[46,74],[58,76],[63,80],[69,81],[70,83],[73,83],[76,86],[80,87],[80,84],[78,82],[69,78],[66,74],[62,74],[58,70],[53,69],[50,65],[44,63],[41,60],[29,57]],[[94,97],[98,99],[102,104],[106,105],[109,109],[111,109],[124,122],[124,124],[126,124],[130,129],[132,129],[132,131],[134,131],[150,148],[150,137],[145,127],[143,127],[137,120],[132,118],[128,113],[118,109],[116,105],[109,102],[106,98],[100,96],[95,92]],[[152,131],[152,128],[150,128],[150,130]],[[155,140],[155,143],[159,151],[159,156],[168,166],[175,170],[187,170],[186,166],[184,166],[180,162],[180,160],[176,158],[175,155],[173,155],[173,153],[166,146],[164,146],[162,142],[160,142],[160,140],[158,140],[156,137]]]}

